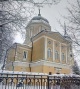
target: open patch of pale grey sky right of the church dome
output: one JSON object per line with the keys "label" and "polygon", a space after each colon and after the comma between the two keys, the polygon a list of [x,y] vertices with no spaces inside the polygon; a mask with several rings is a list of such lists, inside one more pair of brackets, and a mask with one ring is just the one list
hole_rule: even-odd
{"label": "open patch of pale grey sky right of the church dome", "polygon": [[60,27],[59,23],[57,20],[61,20],[63,23],[63,18],[61,15],[66,15],[67,10],[67,0],[61,0],[60,3],[57,5],[52,5],[51,7],[45,6],[44,8],[41,8],[41,15],[49,21],[52,31],[55,29],[62,33],[63,29]]}

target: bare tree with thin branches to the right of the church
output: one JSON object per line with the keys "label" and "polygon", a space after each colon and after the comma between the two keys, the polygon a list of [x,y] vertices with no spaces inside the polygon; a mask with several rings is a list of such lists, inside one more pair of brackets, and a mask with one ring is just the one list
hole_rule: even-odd
{"label": "bare tree with thin branches to the right of the church", "polygon": [[[80,0],[75,0],[75,3],[70,3],[68,1],[67,7],[68,15],[63,16],[66,22],[67,35],[71,38],[74,48],[74,57],[77,59],[80,55]],[[60,21],[59,24],[63,29],[64,25]]]}

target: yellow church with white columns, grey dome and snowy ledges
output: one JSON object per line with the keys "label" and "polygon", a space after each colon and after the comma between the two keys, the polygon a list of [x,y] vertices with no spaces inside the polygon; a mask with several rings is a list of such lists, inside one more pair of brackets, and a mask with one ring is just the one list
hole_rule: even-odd
{"label": "yellow church with white columns, grey dome and snowy ledges", "polygon": [[70,74],[74,64],[72,40],[67,35],[51,31],[49,21],[33,17],[26,27],[23,44],[14,43],[7,53],[6,70]]}

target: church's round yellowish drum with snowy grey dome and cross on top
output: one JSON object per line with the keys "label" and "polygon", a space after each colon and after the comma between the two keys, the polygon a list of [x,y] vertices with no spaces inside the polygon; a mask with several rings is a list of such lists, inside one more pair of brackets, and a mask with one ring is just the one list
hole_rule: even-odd
{"label": "church's round yellowish drum with snowy grey dome and cross on top", "polygon": [[[51,31],[51,26],[49,25],[49,21],[42,17],[40,14],[40,9],[39,9],[39,14],[38,16],[33,17],[27,27],[26,27],[26,40],[25,43],[29,43],[30,39],[37,34],[39,34],[41,31],[46,30],[46,31]],[[29,42],[28,42],[29,41]]]}

